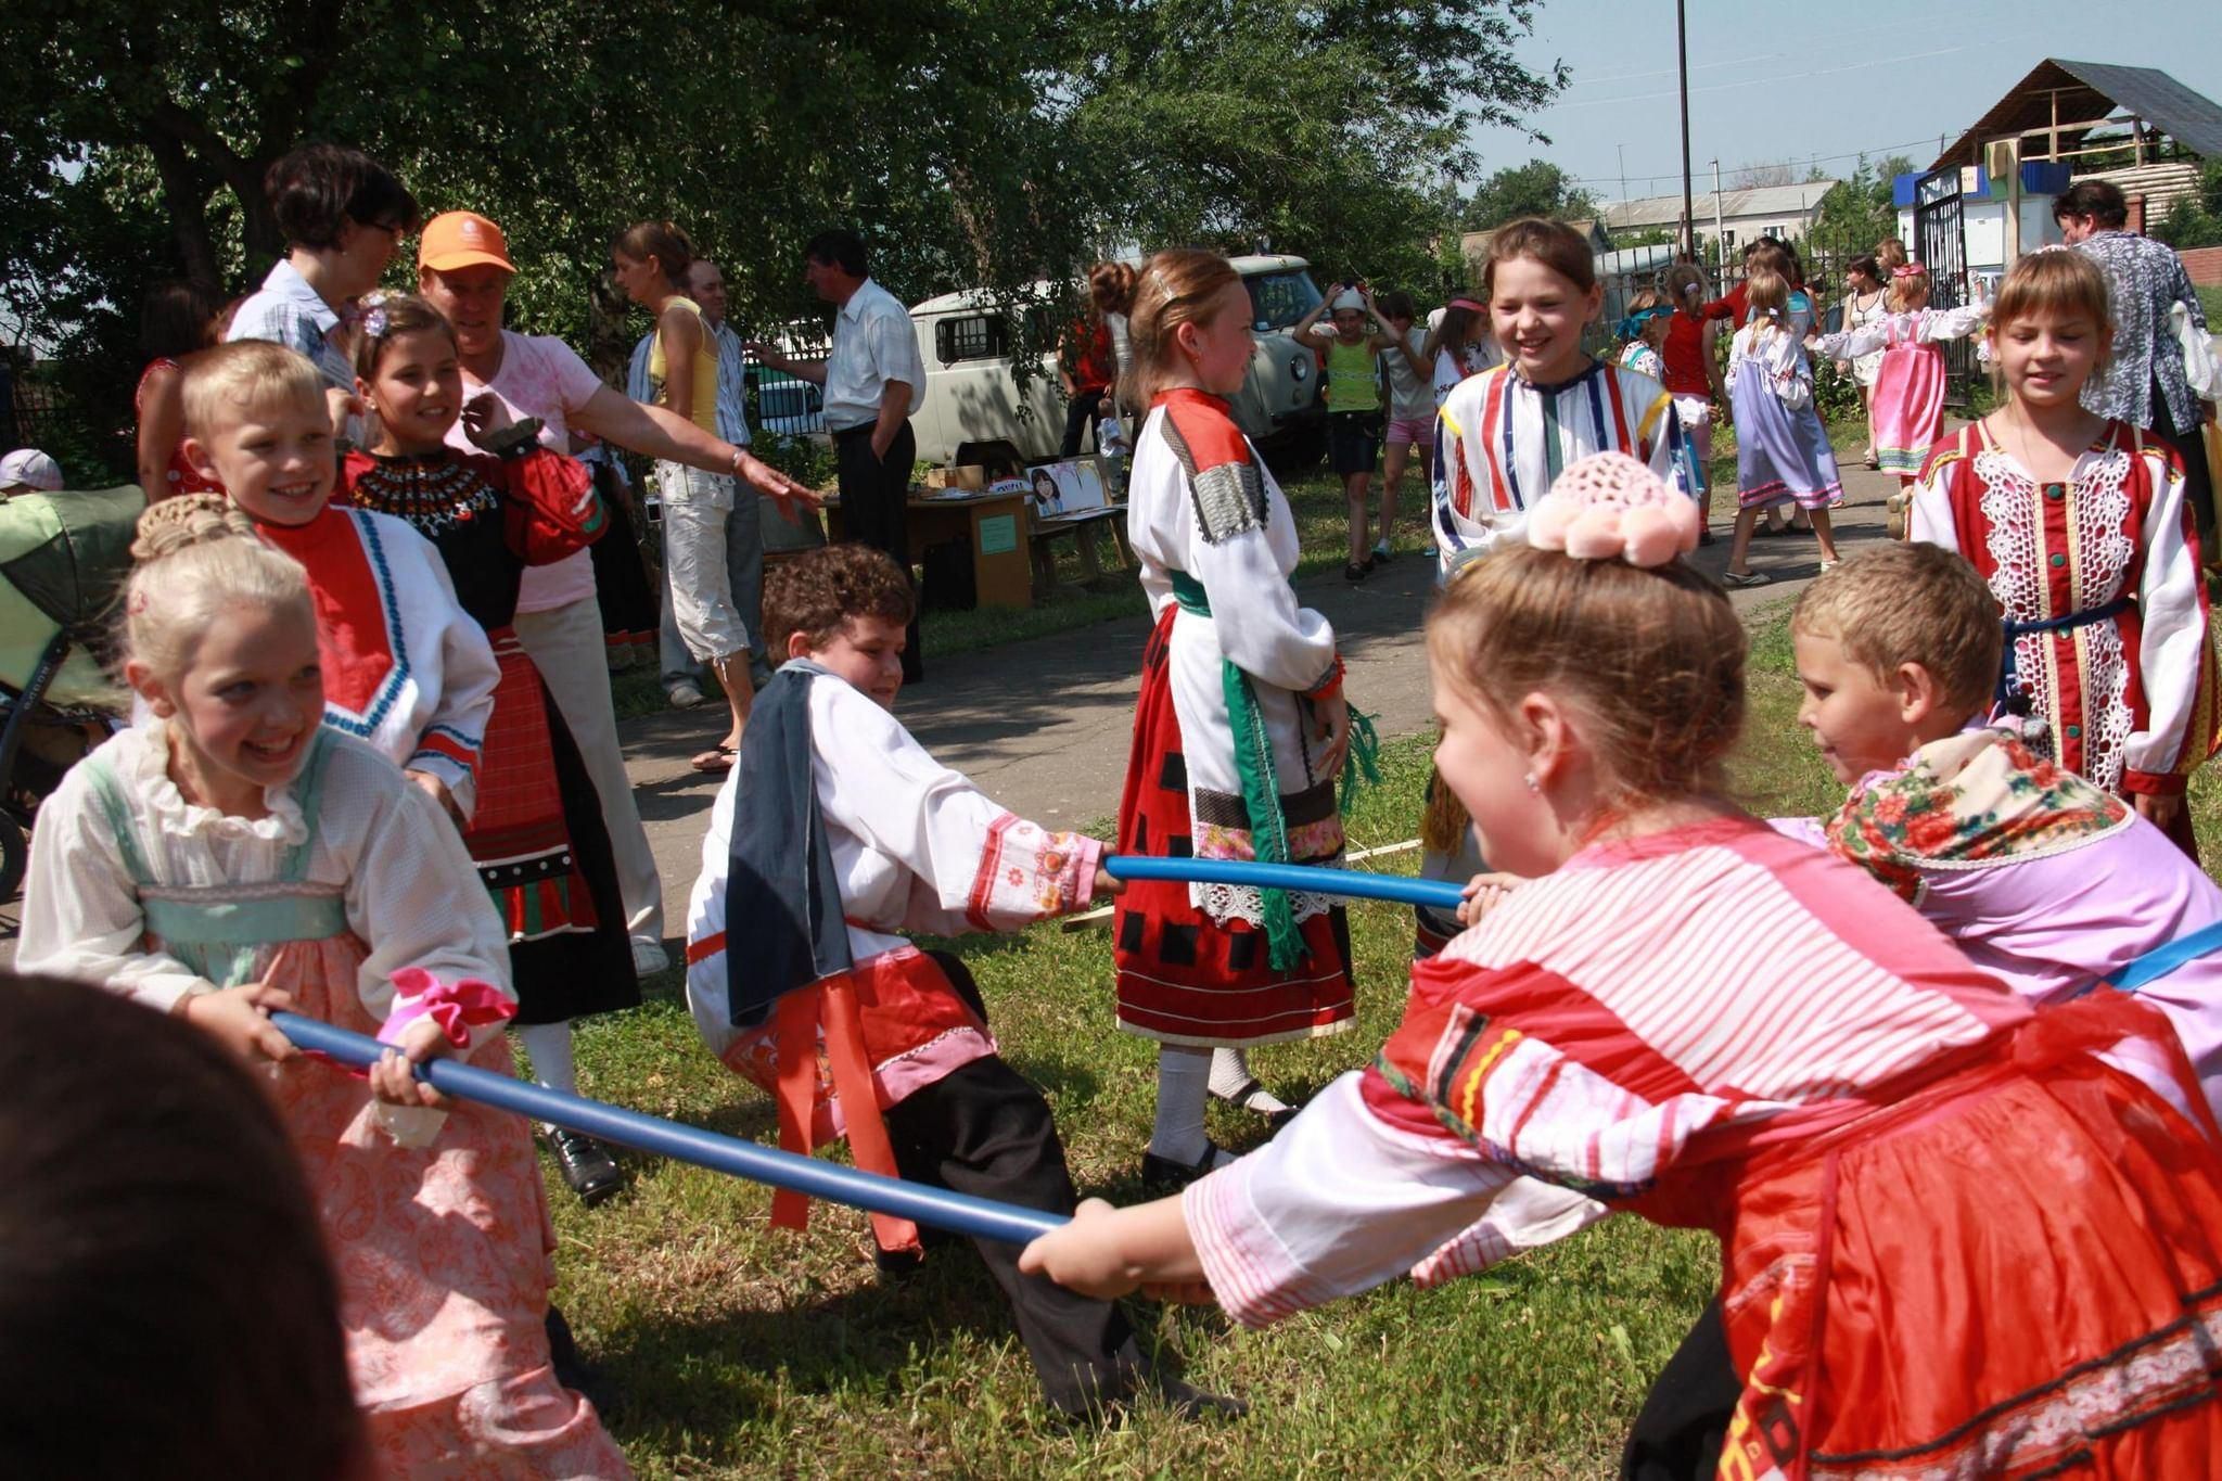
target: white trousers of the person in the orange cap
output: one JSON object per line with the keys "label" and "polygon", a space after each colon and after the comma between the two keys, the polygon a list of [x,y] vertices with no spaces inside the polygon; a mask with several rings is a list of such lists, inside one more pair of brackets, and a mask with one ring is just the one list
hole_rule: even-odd
{"label": "white trousers of the person in the orange cap", "polygon": [[602,802],[602,826],[618,862],[618,893],[624,897],[629,935],[664,939],[664,881],[655,873],[649,830],[640,826],[633,782],[624,775],[618,746],[618,706],[609,697],[609,655],[602,646],[602,608],[582,597],[544,613],[518,613],[518,639],[540,666],[556,708],[571,728],[571,742],[587,762]]}

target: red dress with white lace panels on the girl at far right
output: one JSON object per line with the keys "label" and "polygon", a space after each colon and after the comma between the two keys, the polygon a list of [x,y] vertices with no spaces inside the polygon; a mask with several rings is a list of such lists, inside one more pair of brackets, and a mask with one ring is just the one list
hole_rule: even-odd
{"label": "red dress with white lace panels on the girl at far right", "polygon": [[1909,533],[1991,584],[2053,759],[2106,790],[2182,795],[2215,748],[2215,662],[2164,442],[2111,422],[2069,482],[2040,486],[1978,422],[1929,457]]}

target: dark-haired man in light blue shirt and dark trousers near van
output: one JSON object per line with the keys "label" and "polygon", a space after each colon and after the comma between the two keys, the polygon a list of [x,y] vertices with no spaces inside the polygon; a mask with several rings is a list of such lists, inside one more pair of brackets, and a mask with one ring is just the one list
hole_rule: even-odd
{"label": "dark-haired man in light blue shirt and dark trousers near van", "polygon": [[[791,360],[771,344],[749,344],[760,362],[824,386],[824,420],[840,471],[842,524],[851,540],[878,546],[911,568],[907,502],[918,440],[911,415],[927,400],[911,311],[871,280],[864,242],[853,231],[820,231],[802,249],[802,278],[818,298],[840,304],[833,351]],[[924,677],[918,617],[902,648],[902,679]]]}

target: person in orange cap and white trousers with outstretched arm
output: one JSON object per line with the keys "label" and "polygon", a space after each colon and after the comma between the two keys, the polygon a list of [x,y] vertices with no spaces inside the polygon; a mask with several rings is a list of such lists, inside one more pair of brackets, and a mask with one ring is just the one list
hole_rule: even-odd
{"label": "person in orange cap and white trousers with outstretched arm", "polygon": [[[715,437],[662,406],[644,406],[611,391],[562,340],[520,335],[502,329],[502,298],[516,264],[509,238],[476,211],[447,211],[424,224],[418,244],[418,291],[456,326],[464,397],[496,395],[511,420],[540,417],[540,442],[571,451],[571,433],[584,431],[647,457],[682,462],[711,473],[729,473],[780,500],[793,520],[791,500],[815,506],[815,495],[778,469]],[[449,440],[469,451],[458,417]],[[618,713],[609,695],[609,662],[602,651],[602,615],[593,595],[593,560],[580,551],[551,566],[531,566],[518,597],[518,637],[531,653],[602,804],[602,822],[618,859],[627,930],[633,937],[633,968],[642,975],[671,966],[664,953],[664,895],[649,835],[633,806],[633,786],[618,748]],[[638,993],[631,997],[638,1001]],[[615,1006],[615,1004],[613,1004]],[[533,1077],[556,1090],[575,1090],[571,1026],[536,1024],[518,1037],[533,1057]],[[564,1181],[595,1203],[622,1186],[609,1152],[589,1137],[549,1128]]]}

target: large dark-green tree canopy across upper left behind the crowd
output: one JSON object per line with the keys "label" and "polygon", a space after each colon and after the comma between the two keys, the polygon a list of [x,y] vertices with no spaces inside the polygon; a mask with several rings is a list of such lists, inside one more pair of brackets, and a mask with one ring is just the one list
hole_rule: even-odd
{"label": "large dark-green tree canopy across upper left behind the crowd", "polygon": [[1564,80],[1513,62],[1529,24],[1527,0],[11,0],[0,293],[120,426],[140,298],[253,286],[282,251],[262,171],[311,138],[498,220],[511,322],[604,366],[631,337],[609,242],[642,218],[758,326],[824,318],[800,249],[829,224],[907,300],[1018,302],[1113,242],[1431,286],[1467,127]]}

